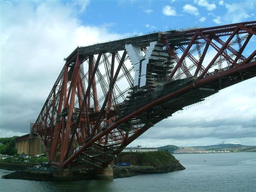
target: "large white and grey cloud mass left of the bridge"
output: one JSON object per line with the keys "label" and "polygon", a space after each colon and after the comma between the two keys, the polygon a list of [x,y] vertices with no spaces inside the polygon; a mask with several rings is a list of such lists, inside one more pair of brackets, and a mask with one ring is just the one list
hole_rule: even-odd
{"label": "large white and grey cloud mass left of the bridge", "polygon": [[[84,26],[63,2],[1,2],[1,136],[28,133],[78,45],[117,39],[108,26]],[[4,37],[4,38],[2,38]],[[15,119],[15,121],[14,121]],[[15,134],[14,134],[15,135]]]}

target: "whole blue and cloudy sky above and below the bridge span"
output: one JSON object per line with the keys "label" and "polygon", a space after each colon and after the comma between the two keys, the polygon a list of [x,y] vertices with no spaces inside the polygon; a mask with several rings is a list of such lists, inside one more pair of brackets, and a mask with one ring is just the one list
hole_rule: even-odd
{"label": "whole blue and cloudy sky above and below the bridge span", "polygon": [[[158,30],[253,21],[255,14],[254,0],[1,0],[0,137],[29,132],[63,58],[77,46]],[[256,78],[176,112],[129,146],[220,143],[256,145]]]}

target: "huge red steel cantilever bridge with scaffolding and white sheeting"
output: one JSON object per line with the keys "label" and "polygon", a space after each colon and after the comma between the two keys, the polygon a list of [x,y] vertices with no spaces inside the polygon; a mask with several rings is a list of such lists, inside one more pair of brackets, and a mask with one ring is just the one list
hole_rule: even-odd
{"label": "huge red steel cantilever bridge with scaffolding and white sheeting", "polygon": [[255,77],[255,36],[252,21],[77,47],[32,132],[50,164],[104,168],[154,124]]}

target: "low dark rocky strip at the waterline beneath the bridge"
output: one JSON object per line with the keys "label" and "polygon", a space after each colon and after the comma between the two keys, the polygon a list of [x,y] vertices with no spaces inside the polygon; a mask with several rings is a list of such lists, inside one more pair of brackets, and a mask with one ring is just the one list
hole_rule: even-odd
{"label": "low dark rocky strip at the waterline beneath the bridge", "polygon": [[[31,165],[31,164],[30,164]],[[0,162],[0,169],[15,171],[10,174],[3,175],[4,179],[22,179],[22,180],[35,180],[35,181],[54,181],[53,170],[34,170],[27,164],[19,165],[17,163],[2,163]],[[141,174],[159,174],[168,173],[178,170],[184,170],[185,167],[181,164],[179,166],[115,166],[113,167],[113,178],[126,178]],[[93,170],[76,169],[73,170],[72,180],[93,180]]]}

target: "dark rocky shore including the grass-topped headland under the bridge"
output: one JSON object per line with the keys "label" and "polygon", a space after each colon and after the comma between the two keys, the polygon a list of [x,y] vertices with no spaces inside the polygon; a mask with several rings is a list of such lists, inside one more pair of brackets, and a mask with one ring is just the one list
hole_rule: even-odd
{"label": "dark rocky shore including the grass-topped headland under the bridge", "polygon": [[[124,178],[139,174],[167,173],[178,170],[184,170],[184,166],[174,158],[169,152],[148,152],[148,153],[122,153],[118,156],[121,162],[130,162],[131,166],[114,166],[113,177]],[[52,181],[53,170],[33,170],[38,164],[18,163],[18,162],[0,162],[1,169],[15,170],[11,174],[2,176],[6,179],[25,179],[36,181]],[[73,169],[73,180],[92,179],[94,170],[92,169]]]}

